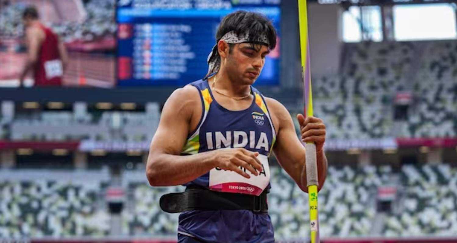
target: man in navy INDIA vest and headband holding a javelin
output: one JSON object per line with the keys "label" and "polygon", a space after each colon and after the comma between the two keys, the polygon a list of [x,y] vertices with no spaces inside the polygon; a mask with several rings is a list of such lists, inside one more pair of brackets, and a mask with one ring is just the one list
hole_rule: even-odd
{"label": "man in navy INDIA vest and headband holding a javelin", "polygon": [[[160,199],[166,212],[182,212],[178,242],[274,242],[266,204],[272,151],[308,190],[300,182],[305,149],[289,112],[251,86],[276,46],[276,31],[264,16],[237,11],[223,18],[216,40],[207,76],[176,89],[165,103],[146,174],[152,186],[187,186]],[[320,189],[327,173],[325,126],[318,118],[297,118],[302,141],[317,146]]]}

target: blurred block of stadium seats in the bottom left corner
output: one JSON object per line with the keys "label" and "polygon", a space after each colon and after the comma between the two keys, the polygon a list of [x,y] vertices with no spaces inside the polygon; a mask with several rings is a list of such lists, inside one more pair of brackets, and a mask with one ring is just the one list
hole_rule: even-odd
{"label": "blurred block of stadium seats in the bottom left corner", "polygon": [[0,171],[0,175],[0,238],[109,233],[109,215],[99,203],[106,172],[87,173],[85,180],[72,172]]}

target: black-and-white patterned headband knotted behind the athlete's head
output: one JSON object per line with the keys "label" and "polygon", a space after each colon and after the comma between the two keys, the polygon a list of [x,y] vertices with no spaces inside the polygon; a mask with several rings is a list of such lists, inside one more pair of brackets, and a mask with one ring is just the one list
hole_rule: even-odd
{"label": "black-and-white patterned headband knotted behind the athlete's head", "polygon": [[[268,41],[268,37],[265,34],[260,35],[255,40],[250,40],[248,33],[238,36],[235,34],[234,31],[230,31],[230,32],[227,32],[224,36],[222,36],[221,41],[225,41],[228,44],[255,42],[255,43],[261,43],[261,44],[270,46],[270,41]],[[219,56],[219,52],[218,52],[218,43],[216,43],[216,45],[214,45],[212,51],[209,53],[207,62],[208,62],[209,67],[208,67],[208,73],[206,74],[205,79],[208,78],[211,74],[218,72],[219,68],[221,67],[221,57]]]}

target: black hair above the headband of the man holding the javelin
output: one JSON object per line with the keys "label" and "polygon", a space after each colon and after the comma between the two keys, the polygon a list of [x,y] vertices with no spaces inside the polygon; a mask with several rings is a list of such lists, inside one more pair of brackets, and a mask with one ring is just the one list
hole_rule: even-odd
{"label": "black hair above the headband of the man holding the javelin", "polygon": [[216,43],[230,31],[234,31],[236,35],[248,33],[249,42],[252,44],[260,44],[255,40],[258,39],[258,36],[266,34],[268,42],[270,42],[268,49],[272,50],[276,47],[275,27],[266,16],[259,13],[239,10],[225,16],[216,32]]}

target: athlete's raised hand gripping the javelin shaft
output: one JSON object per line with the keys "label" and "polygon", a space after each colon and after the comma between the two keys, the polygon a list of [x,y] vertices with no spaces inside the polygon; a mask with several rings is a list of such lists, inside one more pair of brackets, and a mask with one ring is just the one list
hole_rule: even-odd
{"label": "athlete's raised hand gripping the javelin shaft", "polygon": [[302,142],[314,142],[316,151],[321,151],[325,142],[325,125],[322,119],[308,116],[306,119],[302,114],[297,114],[298,123],[302,134]]}

